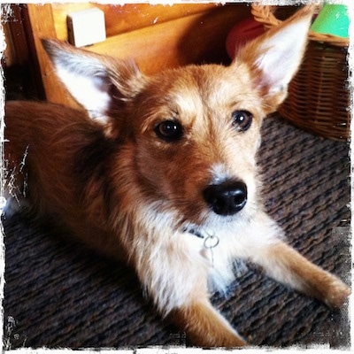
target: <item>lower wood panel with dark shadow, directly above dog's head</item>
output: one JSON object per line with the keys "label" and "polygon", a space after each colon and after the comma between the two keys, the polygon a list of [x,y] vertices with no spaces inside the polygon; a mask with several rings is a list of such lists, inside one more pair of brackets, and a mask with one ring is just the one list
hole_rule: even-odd
{"label": "lower wood panel with dark shadow, directly above dog's head", "polygon": [[190,63],[226,61],[227,34],[248,14],[246,6],[223,6],[116,35],[87,49],[115,58],[135,58],[144,73]]}

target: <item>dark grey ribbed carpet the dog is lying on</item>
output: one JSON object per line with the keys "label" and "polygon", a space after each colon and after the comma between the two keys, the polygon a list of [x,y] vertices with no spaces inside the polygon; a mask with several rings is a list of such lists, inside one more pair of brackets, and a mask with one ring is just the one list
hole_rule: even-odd
{"label": "dark grey ribbed carpet the dog is lying on", "polygon": [[[350,159],[346,142],[304,132],[274,115],[258,154],[266,209],[289,243],[350,284]],[[3,215],[4,349],[189,345],[154,311],[135,273],[24,214]],[[56,234],[56,235],[54,235]],[[348,306],[333,311],[242,269],[212,303],[255,346],[349,348]]]}

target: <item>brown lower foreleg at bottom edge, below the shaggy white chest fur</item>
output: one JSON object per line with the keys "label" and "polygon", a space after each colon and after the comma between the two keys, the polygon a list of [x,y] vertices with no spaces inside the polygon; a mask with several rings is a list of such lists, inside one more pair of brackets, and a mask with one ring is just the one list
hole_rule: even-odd
{"label": "brown lower foreleg at bottom edge, below the shaggy white chest fur", "polygon": [[242,347],[243,341],[226,319],[224,319],[207,298],[173,310],[173,321],[183,328],[189,339],[201,347]]}

